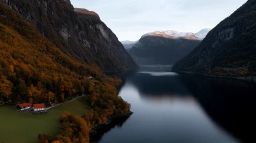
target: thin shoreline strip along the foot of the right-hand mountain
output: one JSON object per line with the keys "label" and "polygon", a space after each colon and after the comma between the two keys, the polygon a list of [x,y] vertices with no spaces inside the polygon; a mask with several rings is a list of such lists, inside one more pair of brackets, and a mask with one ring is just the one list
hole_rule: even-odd
{"label": "thin shoreline strip along the foot of the right-hand mountain", "polygon": [[177,73],[191,73],[195,75],[204,75],[207,77],[220,77],[223,79],[237,79],[237,80],[243,80],[245,82],[250,82],[250,83],[256,83],[256,77],[225,77],[225,76],[220,76],[220,75],[207,75],[204,73],[194,73],[194,72],[177,72]]}

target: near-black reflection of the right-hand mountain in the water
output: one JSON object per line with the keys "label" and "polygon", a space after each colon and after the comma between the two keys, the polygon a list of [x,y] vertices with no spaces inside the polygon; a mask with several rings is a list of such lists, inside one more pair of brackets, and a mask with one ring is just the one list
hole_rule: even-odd
{"label": "near-black reflection of the right-hand mountain in the water", "polygon": [[243,142],[255,140],[255,84],[187,74],[181,80],[216,123]]}

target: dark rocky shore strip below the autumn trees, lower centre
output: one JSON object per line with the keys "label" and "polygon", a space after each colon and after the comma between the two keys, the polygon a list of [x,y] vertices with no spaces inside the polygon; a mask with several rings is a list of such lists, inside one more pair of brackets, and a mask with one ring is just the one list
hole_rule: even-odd
{"label": "dark rocky shore strip below the autumn trees, lower centre", "polygon": [[120,114],[120,115],[116,115],[116,116],[113,116],[113,117],[109,117],[107,119],[106,122],[102,123],[102,124],[97,124],[95,125],[91,130],[90,130],[90,139],[92,139],[94,136],[98,135],[100,132],[102,132],[102,130],[106,127],[108,127],[111,123],[115,122],[114,120],[115,119],[120,119],[120,118],[123,118],[123,117],[129,117],[133,114],[133,112],[129,111],[129,112],[126,112],[124,114]]}

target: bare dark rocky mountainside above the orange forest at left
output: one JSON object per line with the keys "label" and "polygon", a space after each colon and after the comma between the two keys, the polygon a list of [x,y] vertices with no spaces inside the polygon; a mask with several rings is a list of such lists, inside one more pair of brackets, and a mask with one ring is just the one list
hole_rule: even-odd
{"label": "bare dark rocky mountainside above the orange forest at left", "polygon": [[17,11],[63,52],[102,70],[136,68],[115,34],[99,15],[74,9],[69,0],[0,0]]}

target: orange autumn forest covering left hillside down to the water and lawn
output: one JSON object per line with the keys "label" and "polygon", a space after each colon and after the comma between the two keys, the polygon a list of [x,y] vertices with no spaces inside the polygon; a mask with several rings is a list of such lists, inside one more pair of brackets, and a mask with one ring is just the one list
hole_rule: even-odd
{"label": "orange autumn forest covering left hillside down to the water and lawn", "polygon": [[[61,52],[0,2],[0,103],[64,102],[73,95],[88,94],[84,104],[90,105],[92,112],[84,117],[64,114],[60,135],[54,137],[57,142],[88,142],[92,126],[130,110],[131,105],[117,96],[115,86],[122,81],[100,73],[97,67]],[[88,75],[95,79],[88,80]],[[81,129],[85,126],[88,130]],[[73,134],[68,134],[70,130]],[[40,134],[38,142],[50,142],[48,136]]]}

